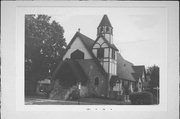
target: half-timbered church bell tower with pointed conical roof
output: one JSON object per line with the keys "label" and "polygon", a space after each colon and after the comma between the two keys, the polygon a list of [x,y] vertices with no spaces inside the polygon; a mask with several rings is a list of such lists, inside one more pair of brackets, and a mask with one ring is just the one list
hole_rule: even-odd
{"label": "half-timbered church bell tower with pointed conical roof", "polygon": [[108,92],[110,91],[111,76],[117,75],[117,52],[118,49],[113,44],[113,27],[104,15],[97,27],[97,39],[93,46],[93,53],[98,59],[105,72],[108,74]]}

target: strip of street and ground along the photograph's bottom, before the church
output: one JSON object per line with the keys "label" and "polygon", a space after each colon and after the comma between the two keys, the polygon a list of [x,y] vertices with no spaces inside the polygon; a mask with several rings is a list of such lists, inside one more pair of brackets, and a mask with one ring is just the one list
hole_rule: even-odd
{"label": "strip of street and ground along the photograph's bottom, before the church", "polygon": [[81,98],[79,101],[50,100],[42,98],[25,98],[26,105],[129,105],[130,102],[99,98]]}

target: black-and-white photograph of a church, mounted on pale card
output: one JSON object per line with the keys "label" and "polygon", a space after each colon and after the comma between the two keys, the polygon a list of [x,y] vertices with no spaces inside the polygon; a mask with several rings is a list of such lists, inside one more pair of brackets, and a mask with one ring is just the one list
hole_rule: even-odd
{"label": "black-and-white photograph of a church, mounted on pale card", "polygon": [[25,104],[158,105],[163,9],[73,9],[24,16]]}

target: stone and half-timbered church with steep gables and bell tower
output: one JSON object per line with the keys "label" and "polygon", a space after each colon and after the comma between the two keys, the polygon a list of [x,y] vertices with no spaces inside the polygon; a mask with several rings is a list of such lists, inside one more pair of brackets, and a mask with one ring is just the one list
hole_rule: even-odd
{"label": "stone and half-timbered church with steep gables and bell tower", "polygon": [[[70,88],[81,83],[87,95],[111,97],[143,90],[145,66],[125,60],[113,43],[113,27],[104,15],[95,40],[76,32],[57,66],[53,79]],[[70,82],[70,83],[69,83]]]}

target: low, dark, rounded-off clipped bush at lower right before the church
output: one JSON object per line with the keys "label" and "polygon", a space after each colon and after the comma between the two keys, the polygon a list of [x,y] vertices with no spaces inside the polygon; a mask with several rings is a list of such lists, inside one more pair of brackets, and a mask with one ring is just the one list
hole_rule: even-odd
{"label": "low, dark, rounded-off clipped bush at lower right before the church", "polygon": [[135,92],[129,96],[133,105],[151,105],[153,104],[153,95],[150,92]]}

